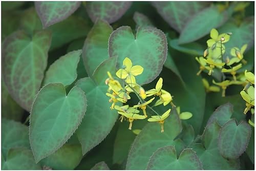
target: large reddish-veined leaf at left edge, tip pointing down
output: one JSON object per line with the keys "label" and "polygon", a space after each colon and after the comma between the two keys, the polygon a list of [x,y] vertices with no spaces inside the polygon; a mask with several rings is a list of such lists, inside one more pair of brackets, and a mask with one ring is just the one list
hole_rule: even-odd
{"label": "large reddish-veined leaf at left edge, tip pointing down", "polygon": [[3,42],[4,81],[12,98],[27,111],[44,77],[50,44],[48,31],[37,31],[32,36],[17,31]]}

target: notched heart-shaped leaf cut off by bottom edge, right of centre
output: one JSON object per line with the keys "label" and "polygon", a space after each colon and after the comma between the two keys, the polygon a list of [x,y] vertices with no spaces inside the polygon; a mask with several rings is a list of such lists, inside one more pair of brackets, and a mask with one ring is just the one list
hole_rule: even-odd
{"label": "notched heart-shaped leaf cut off by bottom edge, right of centre", "polygon": [[174,146],[158,148],[150,158],[149,170],[202,170],[202,163],[192,149],[184,149],[177,157]]}

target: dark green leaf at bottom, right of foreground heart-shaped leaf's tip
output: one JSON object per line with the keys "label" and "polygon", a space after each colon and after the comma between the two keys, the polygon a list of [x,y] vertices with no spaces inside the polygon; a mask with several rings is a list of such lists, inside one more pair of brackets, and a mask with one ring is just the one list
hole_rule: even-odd
{"label": "dark green leaf at bottom, right of foreground heart-shaped leaf's tip", "polygon": [[73,170],[82,159],[80,144],[64,144],[55,153],[40,161],[55,170]]}

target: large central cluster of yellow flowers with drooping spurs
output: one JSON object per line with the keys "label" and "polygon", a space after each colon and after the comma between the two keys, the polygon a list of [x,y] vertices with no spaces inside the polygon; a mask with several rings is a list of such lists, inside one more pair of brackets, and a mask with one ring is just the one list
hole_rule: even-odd
{"label": "large central cluster of yellow flowers with drooping spurs", "polygon": [[[110,72],[108,72],[109,78],[105,80],[105,84],[109,86],[107,96],[110,97],[109,102],[112,102],[111,109],[117,110],[117,113],[120,114],[121,122],[123,120],[127,120],[130,122],[129,129],[132,129],[133,121],[137,119],[145,119],[147,118],[146,109],[150,109],[156,115],[151,116],[148,119],[149,122],[159,122],[161,125],[161,132],[164,132],[163,123],[164,120],[170,115],[171,109],[168,109],[163,115],[159,115],[153,108],[154,106],[158,106],[163,104],[166,106],[167,104],[175,107],[173,103],[173,96],[162,89],[163,79],[159,78],[156,88],[145,91],[137,82],[136,76],[142,74],[143,67],[137,65],[133,66],[131,59],[125,58],[123,60],[123,66],[116,72],[117,78],[113,77]],[[116,103],[122,102],[126,103],[127,100],[131,99],[130,93],[136,94],[138,97],[138,104],[134,106],[129,106],[128,104],[119,106]],[[155,97],[145,100],[147,97],[157,96],[159,99],[156,100],[153,106],[149,104],[153,103]],[[140,115],[140,111],[142,110],[143,115]],[[177,111],[179,113],[177,108]],[[179,114],[181,119],[189,119],[192,117],[192,114],[189,112],[183,112]]]}

